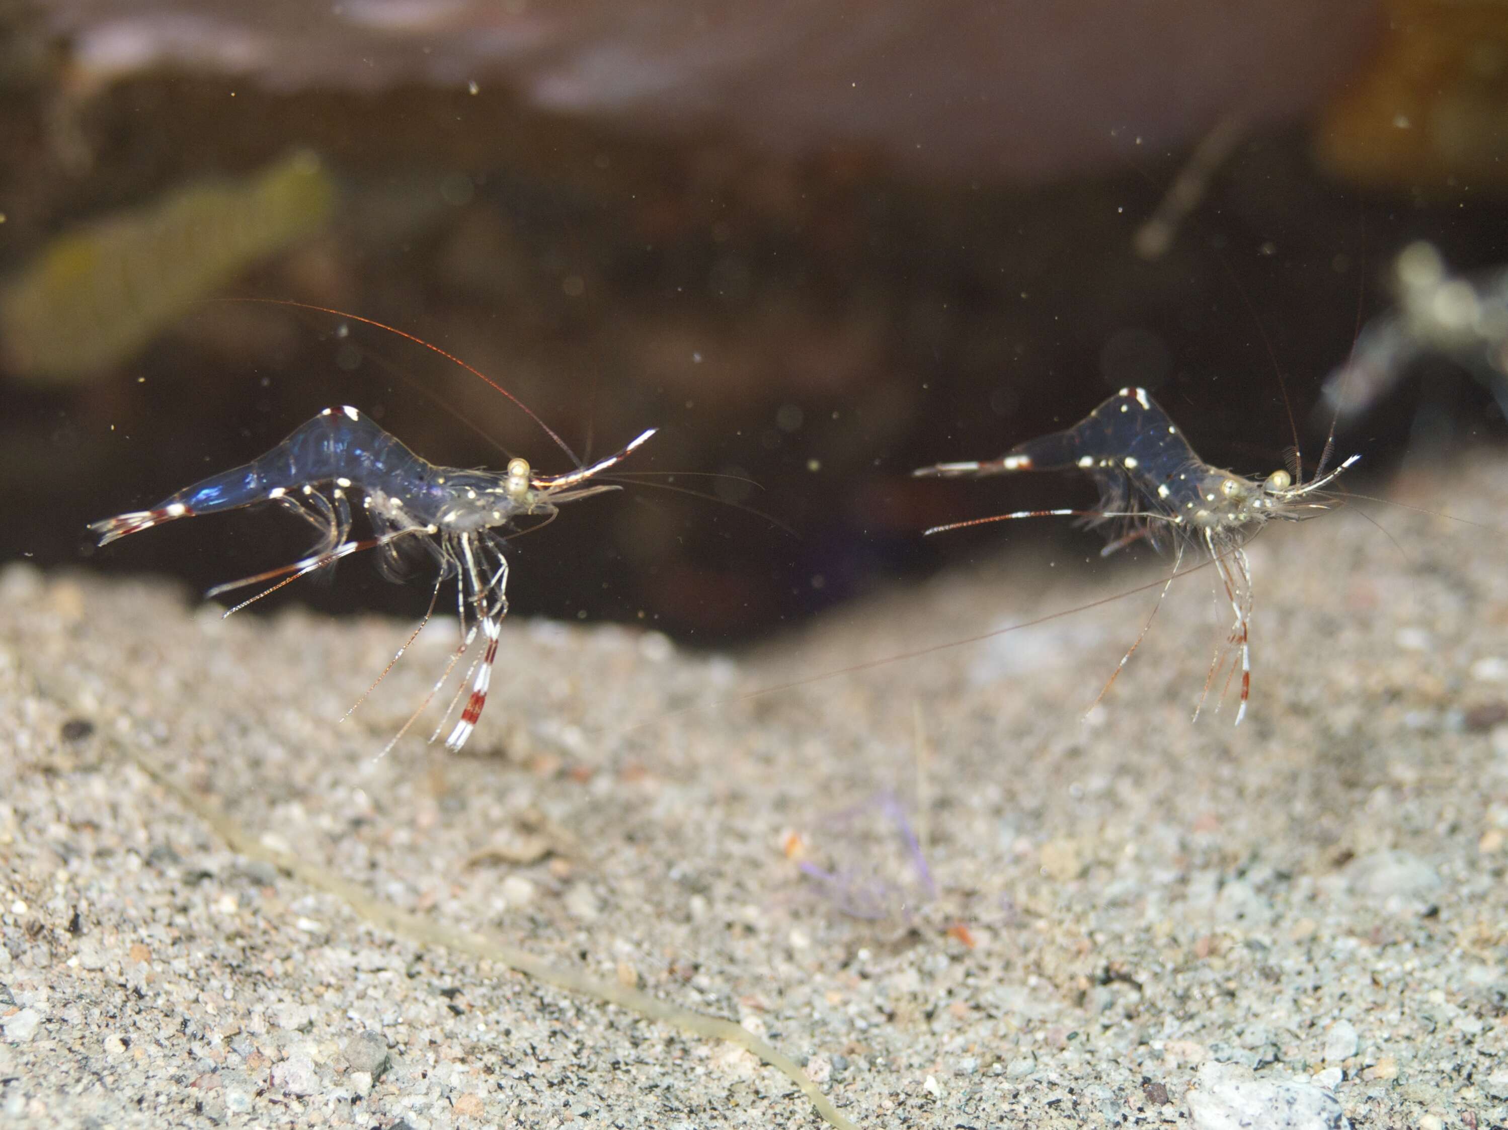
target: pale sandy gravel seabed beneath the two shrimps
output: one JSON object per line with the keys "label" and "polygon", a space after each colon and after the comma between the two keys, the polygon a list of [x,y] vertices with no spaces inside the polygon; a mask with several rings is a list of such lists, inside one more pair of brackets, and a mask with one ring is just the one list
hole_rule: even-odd
{"label": "pale sandy gravel seabed beneath the two shrimps", "polygon": [[[1508,464],[1398,490],[1496,523]],[[406,625],[12,565],[0,1121],[822,1125],[517,946],[739,1023],[864,1127],[1502,1124],[1508,535],[1368,511],[1396,547],[1354,508],[1253,544],[1240,729],[1234,696],[1188,717],[1208,570],[1087,722],[1155,591],[736,696],[1151,562],[1015,556],[737,661],[513,622],[464,755],[425,729],[374,761],[443,625],[336,723]]]}

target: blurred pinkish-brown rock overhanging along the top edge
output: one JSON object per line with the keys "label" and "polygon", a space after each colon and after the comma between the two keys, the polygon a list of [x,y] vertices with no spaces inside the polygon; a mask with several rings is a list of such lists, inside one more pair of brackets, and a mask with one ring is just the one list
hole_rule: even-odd
{"label": "blurred pinkish-brown rock overhanging along the top edge", "polygon": [[534,105],[947,178],[1120,164],[1345,81],[1374,0],[59,0],[83,81],[173,68],[268,89],[505,83]]}

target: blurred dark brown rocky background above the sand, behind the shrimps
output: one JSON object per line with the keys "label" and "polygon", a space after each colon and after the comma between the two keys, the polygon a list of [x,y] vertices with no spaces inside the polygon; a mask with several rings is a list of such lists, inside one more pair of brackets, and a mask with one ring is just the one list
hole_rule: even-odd
{"label": "blurred dark brown rocky background above the sand, behind the shrimps", "polygon": [[[330,214],[196,298],[389,322],[505,384],[581,455],[657,425],[627,469],[712,496],[642,487],[567,508],[517,544],[516,612],[715,645],[998,542],[1093,556],[1066,523],[920,538],[1087,503],[1087,484],[908,472],[997,455],[1145,384],[1209,463],[1267,475],[1294,441],[1279,372],[1312,458],[1316,386],[1386,307],[1401,246],[1430,240],[1461,270],[1508,259],[1508,17],[1491,6],[1212,5],[1190,23],[1161,3],[1069,20],[894,0],[867,26],[826,5],[763,23],[719,5],[694,20],[460,3],[416,23],[425,9],[305,8],[0,5],[0,280],[15,292],[101,217],[314,154]],[[1170,250],[1142,258],[1137,228],[1221,122],[1231,154]],[[127,264],[130,285],[107,291],[119,309],[26,331],[136,316],[235,223]],[[104,551],[84,524],[332,404],[434,463],[501,467],[501,444],[570,466],[474,377],[335,316],[198,301],[65,375],[29,366],[14,315],[6,337],[5,559],[198,588],[293,559],[306,530],[279,512]],[[1381,481],[1502,432],[1487,392],[1442,363],[1341,441]],[[268,604],[412,613],[425,597],[353,560]]]}

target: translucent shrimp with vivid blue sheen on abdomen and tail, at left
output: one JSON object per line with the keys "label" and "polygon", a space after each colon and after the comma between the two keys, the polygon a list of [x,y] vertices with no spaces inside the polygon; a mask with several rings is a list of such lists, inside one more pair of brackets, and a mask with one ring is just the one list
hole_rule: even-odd
{"label": "translucent shrimp with vivid blue sheen on abdomen and tail, at left", "polygon": [[[470,649],[478,630],[484,640],[483,652],[472,664],[470,696],[445,741],[449,749],[457,750],[466,744],[487,702],[502,618],[508,612],[508,559],[504,548],[516,520],[549,521],[564,502],[617,490],[611,484],[593,482],[593,478],[624,460],[653,434],[651,428],[618,454],[564,475],[538,475],[519,458],[511,460],[502,473],[496,473],[439,467],[415,455],[356,408],[326,408],[261,458],[185,487],[151,509],[119,514],[92,523],[89,529],[100,535],[101,545],[107,545],[116,538],[164,521],[262,502],[274,502],[311,523],[320,536],[309,556],[210,589],[208,595],[214,597],[247,585],[276,582],[226,615],[363,550],[379,550],[389,576],[397,576],[400,553],[407,545],[424,547],[439,565],[425,622],[434,610],[440,585],[446,579],[455,579],[461,630],[460,646],[436,690]],[[351,538],[353,499],[359,499],[360,509],[366,514],[371,536]],[[419,627],[422,625],[421,622]],[[409,637],[410,643],[415,636]],[[407,643],[394,657],[394,663],[406,648]],[[430,692],[431,698],[433,695]],[[415,711],[415,717],[418,713]],[[409,723],[412,722],[410,717]],[[440,729],[443,726],[442,720]],[[436,737],[439,732],[436,729]]]}

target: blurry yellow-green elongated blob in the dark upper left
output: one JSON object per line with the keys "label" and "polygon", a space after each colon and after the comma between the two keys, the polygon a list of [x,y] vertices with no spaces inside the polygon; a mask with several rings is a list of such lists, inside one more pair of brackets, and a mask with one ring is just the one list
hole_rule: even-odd
{"label": "blurry yellow-green elongated blob in the dark upper left", "polygon": [[198,298],[320,229],[335,184],[296,152],[63,232],[0,289],[0,348],[35,383],[128,360]]}

